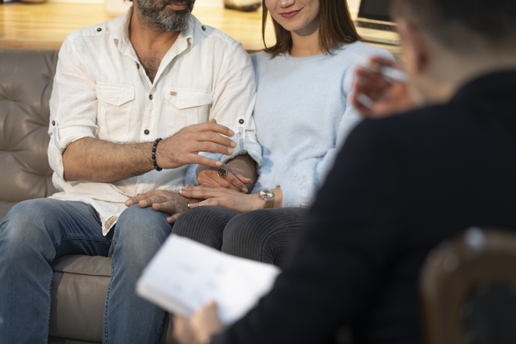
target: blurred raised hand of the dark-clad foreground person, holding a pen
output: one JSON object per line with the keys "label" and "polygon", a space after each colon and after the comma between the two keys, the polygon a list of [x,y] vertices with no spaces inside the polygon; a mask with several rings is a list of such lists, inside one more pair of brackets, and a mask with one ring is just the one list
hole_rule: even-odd
{"label": "blurred raised hand of the dark-clad foreground person, holding a pen", "polygon": [[383,75],[381,69],[385,67],[402,71],[386,58],[371,58],[369,68],[355,71],[351,102],[364,118],[383,118],[414,108],[406,83]]}

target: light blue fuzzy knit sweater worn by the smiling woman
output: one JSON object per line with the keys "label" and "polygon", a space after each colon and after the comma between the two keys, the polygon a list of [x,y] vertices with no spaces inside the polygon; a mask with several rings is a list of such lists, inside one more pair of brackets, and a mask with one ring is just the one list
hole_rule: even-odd
{"label": "light blue fuzzy knit sweater worn by the smiling woman", "polygon": [[283,207],[309,207],[360,116],[347,99],[354,68],[369,56],[392,58],[361,42],[306,58],[252,55],[254,120],[263,162],[252,193],[281,187]]}

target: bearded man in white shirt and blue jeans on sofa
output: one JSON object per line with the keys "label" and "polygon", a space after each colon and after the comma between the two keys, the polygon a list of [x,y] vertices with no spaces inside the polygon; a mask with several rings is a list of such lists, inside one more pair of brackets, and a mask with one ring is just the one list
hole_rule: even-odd
{"label": "bearded man in white shirt and blue jeans on sofa", "polygon": [[222,186],[247,191],[235,175],[261,162],[252,63],[190,16],[195,0],[179,1],[135,1],[64,41],[48,147],[61,192],[17,204],[0,224],[1,343],[46,343],[49,264],[64,254],[112,257],[103,343],[156,343],[165,312],[134,285],[195,202],[175,192],[187,165],[208,176],[227,167]]}

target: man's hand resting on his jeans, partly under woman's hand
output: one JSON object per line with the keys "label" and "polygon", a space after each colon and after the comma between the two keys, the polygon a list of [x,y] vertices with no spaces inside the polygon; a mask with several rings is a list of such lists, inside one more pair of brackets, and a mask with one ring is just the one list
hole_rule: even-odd
{"label": "man's hand resting on his jeans, partly under woman's hand", "polygon": [[154,190],[131,197],[125,201],[125,205],[130,207],[138,203],[142,208],[153,207],[154,210],[166,212],[171,215],[167,217],[168,223],[173,224],[188,209],[188,204],[195,202],[200,202],[200,199],[187,199],[177,192]]}

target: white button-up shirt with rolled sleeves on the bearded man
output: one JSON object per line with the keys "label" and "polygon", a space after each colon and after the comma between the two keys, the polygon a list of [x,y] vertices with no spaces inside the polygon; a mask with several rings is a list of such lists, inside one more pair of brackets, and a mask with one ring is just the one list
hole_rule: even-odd
{"label": "white button-up shirt with rolled sleeves on the bearded man", "polygon": [[151,83],[129,40],[131,14],[132,8],[66,38],[50,100],[48,159],[53,184],[61,190],[51,197],[93,205],[104,235],[128,198],[154,189],[177,191],[185,184],[187,166],[113,183],[66,182],[62,153],[71,142],[83,137],[122,144],[152,142],[215,118],[235,132],[232,140],[237,142],[233,155],[217,155],[219,160],[247,152],[261,163],[252,118],[254,70],[241,44],[191,16]]}

